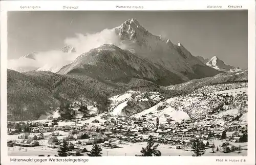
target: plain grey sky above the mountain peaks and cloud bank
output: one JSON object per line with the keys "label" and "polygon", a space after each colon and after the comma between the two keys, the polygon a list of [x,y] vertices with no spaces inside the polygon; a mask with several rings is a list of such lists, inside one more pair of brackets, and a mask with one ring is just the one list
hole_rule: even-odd
{"label": "plain grey sky above the mountain peaks and cloud bank", "polygon": [[8,59],[59,50],[76,34],[112,29],[135,18],[153,35],[180,42],[193,56],[217,56],[247,68],[247,11],[13,11],[8,13]]}

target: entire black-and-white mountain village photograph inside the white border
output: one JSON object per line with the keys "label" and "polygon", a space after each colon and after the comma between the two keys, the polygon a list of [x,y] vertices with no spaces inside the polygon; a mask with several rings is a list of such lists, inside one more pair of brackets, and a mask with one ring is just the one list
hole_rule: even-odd
{"label": "entire black-and-white mountain village photograph inside the white border", "polygon": [[8,156],[247,156],[247,10],[8,11],[7,45]]}

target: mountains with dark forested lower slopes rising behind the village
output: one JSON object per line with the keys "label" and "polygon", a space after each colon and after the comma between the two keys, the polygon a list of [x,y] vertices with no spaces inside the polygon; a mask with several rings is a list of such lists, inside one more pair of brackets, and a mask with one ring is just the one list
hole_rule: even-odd
{"label": "mountains with dark forested lower slopes rising behind the village", "polygon": [[[94,47],[79,54],[75,60],[65,61],[65,66],[56,61],[56,64],[38,67],[37,52],[21,57],[26,64],[33,65],[7,70],[10,119],[37,119],[50,111],[50,107],[77,100],[96,102],[99,112],[104,112],[108,109],[108,99],[124,91],[166,92],[162,86],[218,75],[223,77],[228,74],[224,73],[225,69],[233,69],[217,58],[205,63],[181,43],[173,44],[169,39],[162,40],[151,34],[136,19],[126,20],[110,31],[118,37],[119,43]],[[60,50],[63,56],[77,53],[72,45]],[[241,75],[243,79],[245,74]],[[237,76],[231,74],[216,83],[230,78],[236,80]],[[172,91],[169,95],[183,92]]]}

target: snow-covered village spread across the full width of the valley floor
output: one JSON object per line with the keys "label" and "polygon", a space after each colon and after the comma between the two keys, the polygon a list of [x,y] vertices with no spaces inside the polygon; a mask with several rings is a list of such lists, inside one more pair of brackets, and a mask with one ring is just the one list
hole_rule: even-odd
{"label": "snow-covered village spread across the full width of the valley floor", "polygon": [[[107,116],[102,115],[101,118]],[[247,148],[247,125],[233,124],[225,126],[227,131],[223,131],[218,125],[196,126],[193,120],[174,125],[160,124],[157,128],[157,124],[147,123],[142,119],[129,117],[111,119],[102,124],[97,119],[93,120],[100,124],[98,126],[89,124],[77,126],[77,123],[81,122],[80,119],[75,120],[74,125],[32,127],[31,132],[24,130],[20,134],[13,132],[10,136],[17,135],[17,139],[8,141],[8,146],[58,148],[63,140],[67,140],[70,148],[79,152],[88,145],[101,144],[102,147],[112,149],[125,144],[147,142],[148,137],[152,136],[155,142],[167,145],[170,149],[188,152],[191,150],[191,140],[195,138],[202,140],[205,147],[212,148],[211,152],[217,150],[225,153]],[[218,145],[218,141],[223,143]]]}

